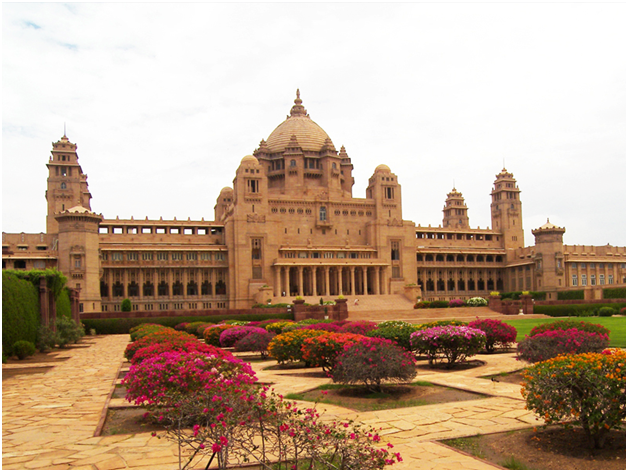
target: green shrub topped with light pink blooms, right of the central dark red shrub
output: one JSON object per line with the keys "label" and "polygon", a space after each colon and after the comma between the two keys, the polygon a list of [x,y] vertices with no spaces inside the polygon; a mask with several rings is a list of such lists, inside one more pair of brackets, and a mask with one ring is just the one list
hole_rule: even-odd
{"label": "green shrub topped with light pink blooms, right of the central dark red shrub", "polygon": [[469,326],[435,326],[412,333],[410,342],[412,349],[427,355],[430,365],[444,360],[451,368],[480,352],[486,335]]}

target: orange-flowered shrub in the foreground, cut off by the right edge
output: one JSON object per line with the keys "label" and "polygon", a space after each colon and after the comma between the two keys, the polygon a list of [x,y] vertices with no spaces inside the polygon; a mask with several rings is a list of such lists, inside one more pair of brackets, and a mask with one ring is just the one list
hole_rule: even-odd
{"label": "orange-flowered shrub in the foreground, cut off by the right edge", "polygon": [[526,408],[546,424],[577,421],[593,449],[626,418],[626,352],[558,356],[524,372]]}

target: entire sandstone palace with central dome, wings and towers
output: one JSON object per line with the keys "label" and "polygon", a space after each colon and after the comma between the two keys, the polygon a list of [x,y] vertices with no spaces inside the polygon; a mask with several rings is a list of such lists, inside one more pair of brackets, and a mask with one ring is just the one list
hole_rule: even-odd
{"label": "entire sandstone palace with central dome, wings and towers", "polygon": [[564,245],[565,228],[549,221],[526,247],[520,190],[506,169],[491,189],[491,229],[471,228],[455,188],[441,225],[404,220],[401,186],[384,164],[366,197],[353,197],[347,150],[298,91],[290,115],[219,192],[211,220],[105,218],[91,209],[76,149],[65,135],[53,143],[46,233],[3,233],[2,268],[58,268],[85,312],[119,311],[125,298],[139,311],[341,294],[450,300],[530,290],[555,299],[626,283],[625,247]]}

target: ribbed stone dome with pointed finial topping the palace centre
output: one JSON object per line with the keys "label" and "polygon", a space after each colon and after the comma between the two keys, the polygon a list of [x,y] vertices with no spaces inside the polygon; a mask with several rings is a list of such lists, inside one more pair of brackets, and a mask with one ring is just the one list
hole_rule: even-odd
{"label": "ribbed stone dome with pointed finial topping the palace centre", "polygon": [[299,90],[297,90],[297,98],[290,110],[290,116],[277,126],[266,140],[266,146],[268,146],[270,153],[283,152],[292,136],[297,138],[301,149],[316,152],[319,152],[325,141],[329,139],[323,128],[310,119],[310,115],[307,114],[301,103]]}

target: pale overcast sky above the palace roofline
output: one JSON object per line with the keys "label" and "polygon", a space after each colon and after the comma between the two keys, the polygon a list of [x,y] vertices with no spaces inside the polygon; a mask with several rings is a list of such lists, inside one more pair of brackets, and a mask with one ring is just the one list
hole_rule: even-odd
{"label": "pale overcast sky above the palace roofline", "polygon": [[354,197],[387,164],[404,219],[452,187],[490,225],[506,166],[526,245],[626,244],[626,5],[2,4],[2,229],[45,231],[51,143],[105,218],[213,220],[290,111],[345,145]]}

